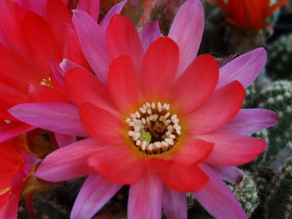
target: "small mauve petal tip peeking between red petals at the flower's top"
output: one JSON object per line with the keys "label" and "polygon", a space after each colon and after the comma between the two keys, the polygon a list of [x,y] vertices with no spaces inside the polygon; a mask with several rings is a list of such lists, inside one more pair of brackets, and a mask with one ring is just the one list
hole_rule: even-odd
{"label": "small mauve petal tip peeking between red petals at the flower's top", "polygon": [[150,44],[159,37],[161,37],[161,34],[158,20],[154,22],[152,21],[147,22],[144,25],[140,34],[140,40],[144,48],[144,51],[146,51]]}

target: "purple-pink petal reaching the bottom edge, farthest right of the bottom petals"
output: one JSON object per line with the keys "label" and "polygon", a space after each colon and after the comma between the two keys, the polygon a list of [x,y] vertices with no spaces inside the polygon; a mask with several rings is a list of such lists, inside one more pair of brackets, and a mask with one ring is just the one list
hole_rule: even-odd
{"label": "purple-pink petal reaching the bottom edge, farthest right of the bottom petals", "polygon": [[200,204],[216,219],[248,219],[237,198],[216,173],[206,164],[199,164],[210,180],[192,192]]}

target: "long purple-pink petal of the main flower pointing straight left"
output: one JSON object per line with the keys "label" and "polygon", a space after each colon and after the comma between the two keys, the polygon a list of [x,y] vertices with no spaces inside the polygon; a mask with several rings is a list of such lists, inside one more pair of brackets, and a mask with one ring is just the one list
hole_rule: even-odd
{"label": "long purple-pink petal of the main flower pointing straight left", "polygon": [[15,118],[32,126],[61,134],[89,136],[81,126],[78,108],[72,104],[28,103],[19,104],[8,111]]}

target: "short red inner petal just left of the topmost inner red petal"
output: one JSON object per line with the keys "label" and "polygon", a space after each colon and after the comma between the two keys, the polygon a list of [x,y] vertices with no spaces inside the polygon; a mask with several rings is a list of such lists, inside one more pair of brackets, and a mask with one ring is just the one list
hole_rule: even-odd
{"label": "short red inner petal just left of the topmost inner red petal", "polygon": [[120,111],[129,113],[140,105],[139,87],[129,56],[123,55],[112,61],[108,87],[110,96]]}

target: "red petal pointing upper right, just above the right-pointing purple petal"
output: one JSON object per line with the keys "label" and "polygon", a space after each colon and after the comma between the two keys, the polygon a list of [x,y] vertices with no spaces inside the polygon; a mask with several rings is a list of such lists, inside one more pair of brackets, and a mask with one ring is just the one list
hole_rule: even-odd
{"label": "red petal pointing upper right, just above the right-pointing purple petal", "polygon": [[185,116],[186,134],[204,134],[226,125],[240,110],[244,95],[238,81],[215,90],[201,107]]}

